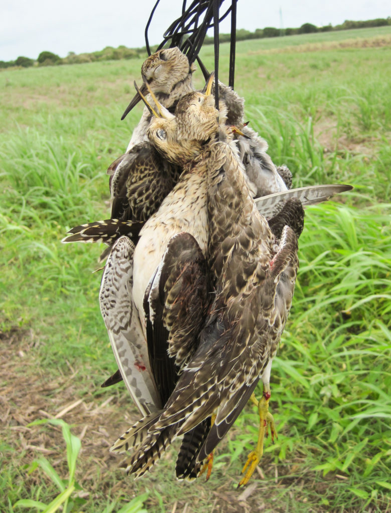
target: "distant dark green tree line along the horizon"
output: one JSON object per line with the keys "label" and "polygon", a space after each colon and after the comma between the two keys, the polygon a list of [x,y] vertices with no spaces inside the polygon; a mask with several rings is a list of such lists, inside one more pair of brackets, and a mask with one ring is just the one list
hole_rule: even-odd
{"label": "distant dark green tree line along the horizon", "polygon": [[[341,25],[333,27],[331,24],[325,25],[324,27],[316,27],[311,23],[304,23],[299,28],[286,28],[278,29],[276,27],[265,27],[264,29],[256,29],[254,32],[249,30],[239,29],[236,31],[237,41],[243,41],[248,39],[260,39],[263,37],[279,37],[284,35],[296,35],[296,34],[310,34],[313,32],[329,32],[334,30],[350,30],[368,27],[381,27],[384,25],[391,25],[391,17],[387,18],[376,18],[367,19],[364,22],[354,22],[346,19]],[[220,34],[220,43],[230,41],[230,34]],[[205,45],[213,44],[213,37],[205,37]],[[146,47],[143,48],[127,48],[124,45],[118,48],[112,46],[106,46],[101,51],[92,53],[80,53],[75,54],[69,52],[64,58],[56,55],[55,53],[44,51],[38,55],[36,61],[29,57],[19,56],[15,61],[0,61],[1,68],[10,67],[22,67],[29,68],[30,66],[55,66],[61,64],[83,64],[95,61],[119,61],[121,59],[131,59],[135,57],[143,57],[146,54]]]}

